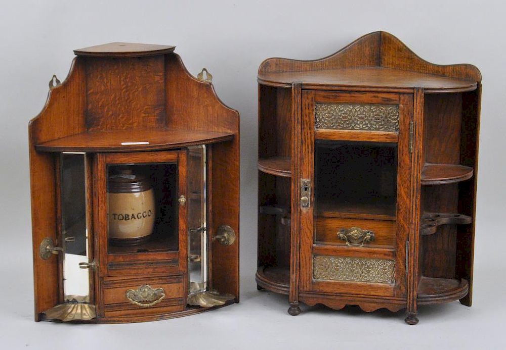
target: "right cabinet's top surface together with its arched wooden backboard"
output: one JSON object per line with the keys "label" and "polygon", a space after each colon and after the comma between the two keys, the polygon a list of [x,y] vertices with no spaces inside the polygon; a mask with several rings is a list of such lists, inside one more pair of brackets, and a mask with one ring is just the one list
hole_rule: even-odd
{"label": "right cabinet's top surface together with its arched wooden backboard", "polygon": [[469,64],[425,61],[392,34],[377,31],[322,59],[267,59],[258,81],[280,87],[302,82],[306,89],[410,92],[421,87],[426,93],[442,93],[475,90],[481,73]]}

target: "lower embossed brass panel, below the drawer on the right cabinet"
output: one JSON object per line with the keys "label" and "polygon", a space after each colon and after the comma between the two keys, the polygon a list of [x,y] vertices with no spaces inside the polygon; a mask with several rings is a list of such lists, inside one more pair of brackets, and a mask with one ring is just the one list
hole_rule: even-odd
{"label": "lower embossed brass panel, below the drawer on the right cabinet", "polygon": [[394,260],[315,255],[313,264],[313,278],[318,280],[395,282]]}

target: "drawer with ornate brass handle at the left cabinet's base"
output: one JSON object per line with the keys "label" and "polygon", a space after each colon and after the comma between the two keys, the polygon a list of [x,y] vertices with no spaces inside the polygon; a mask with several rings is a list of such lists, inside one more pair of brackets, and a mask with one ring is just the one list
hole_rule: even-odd
{"label": "drawer with ornate brass handle at the left cabinet's base", "polygon": [[145,316],[183,311],[185,307],[182,275],[102,279],[104,316]]}

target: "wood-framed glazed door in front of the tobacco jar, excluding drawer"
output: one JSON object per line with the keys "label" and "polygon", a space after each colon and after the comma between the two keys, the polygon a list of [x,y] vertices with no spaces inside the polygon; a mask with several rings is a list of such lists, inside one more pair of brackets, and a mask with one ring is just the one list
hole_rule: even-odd
{"label": "wood-framed glazed door in front of the tobacco jar, excluding drawer", "polygon": [[186,271],[187,151],[97,154],[100,276]]}

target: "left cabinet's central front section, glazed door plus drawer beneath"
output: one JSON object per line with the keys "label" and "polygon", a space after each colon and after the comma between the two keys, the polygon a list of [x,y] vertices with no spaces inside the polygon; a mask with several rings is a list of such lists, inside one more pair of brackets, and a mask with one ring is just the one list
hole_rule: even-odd
{"label": "left cabinet's central front section, glazed door plus drawer beneath", "polygon": [[185,309],[188,150],[97,154],[100,318],[142,320]]}

